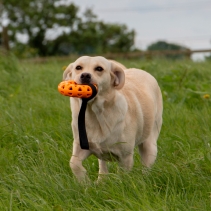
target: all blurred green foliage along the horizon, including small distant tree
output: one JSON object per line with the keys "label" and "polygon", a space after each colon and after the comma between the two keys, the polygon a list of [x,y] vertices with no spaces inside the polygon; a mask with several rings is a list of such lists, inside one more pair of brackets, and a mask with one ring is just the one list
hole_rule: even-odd
{"label": "all blurred green foliage along the horizon, including small distant tree", "polygon": [[[99,20],[91,8],[81,14],[78,6],[61,0],[0,1],[0,32],[0,46],[18,58],[142,51],[135,47],[135,30],[125,24]],[[190,49],[157,41],[147,50]],[[190,58],[190,54],[161,57],[183,59]]]}

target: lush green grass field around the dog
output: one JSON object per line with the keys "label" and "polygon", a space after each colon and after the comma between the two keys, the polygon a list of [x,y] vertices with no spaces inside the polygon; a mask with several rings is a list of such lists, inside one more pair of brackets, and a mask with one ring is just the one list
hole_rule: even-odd
{"label": "lush green grass field around the dog", "polygon": [[158,157],[144,174],[136,151],[131,172],[109,163],[96,184],[92,156],[84,162],[91,182],[81,185],[69,168],[69,99],[57,91],[69,62],[0,57],[0,210],[211,210],[211,63],[122,61],[162,89]]}

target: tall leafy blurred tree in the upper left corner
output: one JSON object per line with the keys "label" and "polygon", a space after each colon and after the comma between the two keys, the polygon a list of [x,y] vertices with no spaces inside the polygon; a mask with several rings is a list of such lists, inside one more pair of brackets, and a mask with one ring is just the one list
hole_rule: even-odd
{"label": "tall leafy blurred tree in the upper left corner", "polygon": [[[28,37],[28,45],[38,49],[38,54],[48,54],[47,30],[73,28],[79,20],[78,7],[74,4],[63,5],[54,0],[2,0],[3,10],[10,20],[10,38],[17,42],[17,35],[24,34]],[[54,31],[52,30],[52,31]]]}

